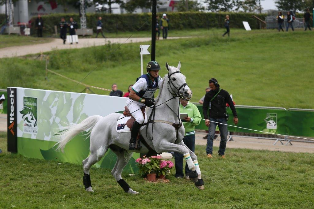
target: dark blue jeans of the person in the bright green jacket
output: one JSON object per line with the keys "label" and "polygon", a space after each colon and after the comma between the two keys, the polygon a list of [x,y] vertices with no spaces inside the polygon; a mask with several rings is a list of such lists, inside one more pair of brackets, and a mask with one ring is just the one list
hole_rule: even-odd
{"label": "dark blue jeans of the person in the bright green jacket", "polygon": [[[185,136],[183,138],[183,142],[187,147],[194,152],[195,150],[195,134]],[[175,152],[175,166],[176,166],[176,177],[183,177],[183,154]],[[187,163],[185,164],[185,175],[188,176],[190,174],[190,169],[187,166]]]}

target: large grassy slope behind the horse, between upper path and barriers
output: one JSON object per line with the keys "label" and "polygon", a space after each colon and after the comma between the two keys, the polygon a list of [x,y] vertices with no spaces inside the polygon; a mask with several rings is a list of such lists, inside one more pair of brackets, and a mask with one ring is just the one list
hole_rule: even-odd
{"label": "large grassy slope behind the horse, between upper path and barriers", "polygon": [[[160,40],[156,45],[156,60],[165,65],[177,65],[187,76],[193,90],[193,102],[198,102],[215,77],[221,87],[233,94],[238,105],[314,108],[312,94],[314,48],[309,40],[312,31],[278,33],[275,30],[231,30],[230,38],[223,38],[223,29],[203,31],[204,37]],[[50,56],[49,69],[83,82],[110,89],[127,90],[140,76],[138,45],[124,44],[90,47],[78,50],[55,50]],[[150,44],[150,43],[142,43]],[[144,56],[144,63],[150,56]],[[48,73],[45,80],[44,61],[25,58],[1,60],[0,88],[21,86],[49,90],[76,91],[84,86]],[[99,66],[98,66],[99,65]],[[165,67],[160,71],[165,75]],[[94,90],[93,90],[94,91]],[[106,94],[107,91],[95,90]]]}

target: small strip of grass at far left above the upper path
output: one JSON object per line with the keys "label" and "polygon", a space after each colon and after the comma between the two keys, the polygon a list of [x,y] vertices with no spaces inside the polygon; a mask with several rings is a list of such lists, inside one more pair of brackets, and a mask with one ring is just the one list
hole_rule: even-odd
{"label": "small strip of grass at far left above the upper path", "polygon": [[37,38],[32,36],[19,36],[16,34],[0,35],[0,49],[10,46],[43,44],[51,40],[52,38]]}

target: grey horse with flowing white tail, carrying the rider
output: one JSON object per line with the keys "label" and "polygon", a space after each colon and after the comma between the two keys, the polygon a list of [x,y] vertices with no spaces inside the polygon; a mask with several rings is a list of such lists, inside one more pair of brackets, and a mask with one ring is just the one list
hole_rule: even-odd
{"label": "grey horse with flowing white tail, carrying the rider", "polygon": [[[160,93],[156,98],[154,117],[152,117],[154,123],[146,124],[148,127],[140,131],[140,134],[146,141],[146,145],[142,143],[143,148],[141,150],[132,150],[132,152],[128,150],[130,132],[117,133],[116,121],[121,116],[120,113],[111,113],[106,117],[99,115],[90,116],[79,124],[68,126],[58,135],[57,150],[61,149],[63,152],[65,145],[75,135],[89,129],[90,155],[83,160],[83,182],[86,191],[93,192],[89,175],[90,167],[106,154],[108,148],[117,155],[117,161],[111,174],[122,189],[129,194],[138,194],[138,192],[130,188],[127,182],[122,179],[121,173],[132,157],[133,151],[144,154],[149,153],[151,150],[154,150],[156,153],[175,151],[183,154],[191,170],[190,178],[195,182],[197,188],[204,189],[197,157],[182,141],[184,126],[182,126],[180,118],[176,113],[179,108],[180,96],[185,97],[187,100],[192,98],[192,91],[187,86],[186,77],[181,74],[180,68],[180,62],[177,67],[169,66],[166,63],[168,74],[163,78]],[[146,107],[148,116],[152,111],[153,108]],[[176,124],[176,128],[172,124]]]}

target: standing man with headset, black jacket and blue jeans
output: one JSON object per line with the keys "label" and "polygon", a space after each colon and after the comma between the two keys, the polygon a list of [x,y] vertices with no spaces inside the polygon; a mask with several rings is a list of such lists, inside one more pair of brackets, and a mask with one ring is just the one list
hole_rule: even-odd
{"label": "standing man with headset, black jacket and blue jeans", "polygon": [[226,112],[226,103],[229,104],[230,109],[232,110],[233,122],[235,125],[238,124],[236,107],[234,106],[228,91],[221,89],[218,81],[215,78],[211,78],[209,80],[209,87],[210,91],[205,94],[203,103],[205,125],[208,127],[209,132],[207,138],[206,154],[208,158],[213,157],[215,129],[218,125],[220,131],[220,144],[218,155],[222,158],[225,158],[228,128],[226,125],[223,124],[227,124],[227,120],[229,117],[228,113]]}

